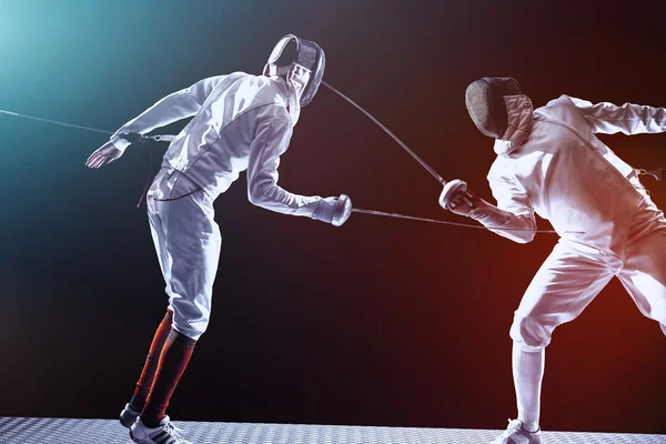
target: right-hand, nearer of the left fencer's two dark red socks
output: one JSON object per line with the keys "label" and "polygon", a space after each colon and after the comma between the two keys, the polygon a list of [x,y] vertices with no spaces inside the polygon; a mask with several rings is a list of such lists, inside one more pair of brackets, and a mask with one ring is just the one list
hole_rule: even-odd
{"label": "right-hand, nearer of the left fencer's two dark red socks", "polygon": [[150,397],[141,412],[141,421],[148,427],[157,427],[164,417],[169,400],[190,362],[194,345],[196,345],[195,340],[171,329],[160,355],[160,364]]}

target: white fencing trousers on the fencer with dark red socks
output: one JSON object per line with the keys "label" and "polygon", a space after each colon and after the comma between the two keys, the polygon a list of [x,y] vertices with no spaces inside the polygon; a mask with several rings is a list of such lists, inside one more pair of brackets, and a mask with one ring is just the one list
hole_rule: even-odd
{"label": "white fencing trousers on the fencer with dark red socks", "polygon": [[147,193],[148,219],[167,283],[173,327],[198,340],[211,314],[213,281],[222,238],[213,220],[213,200],[178,171],[160,170]]}

